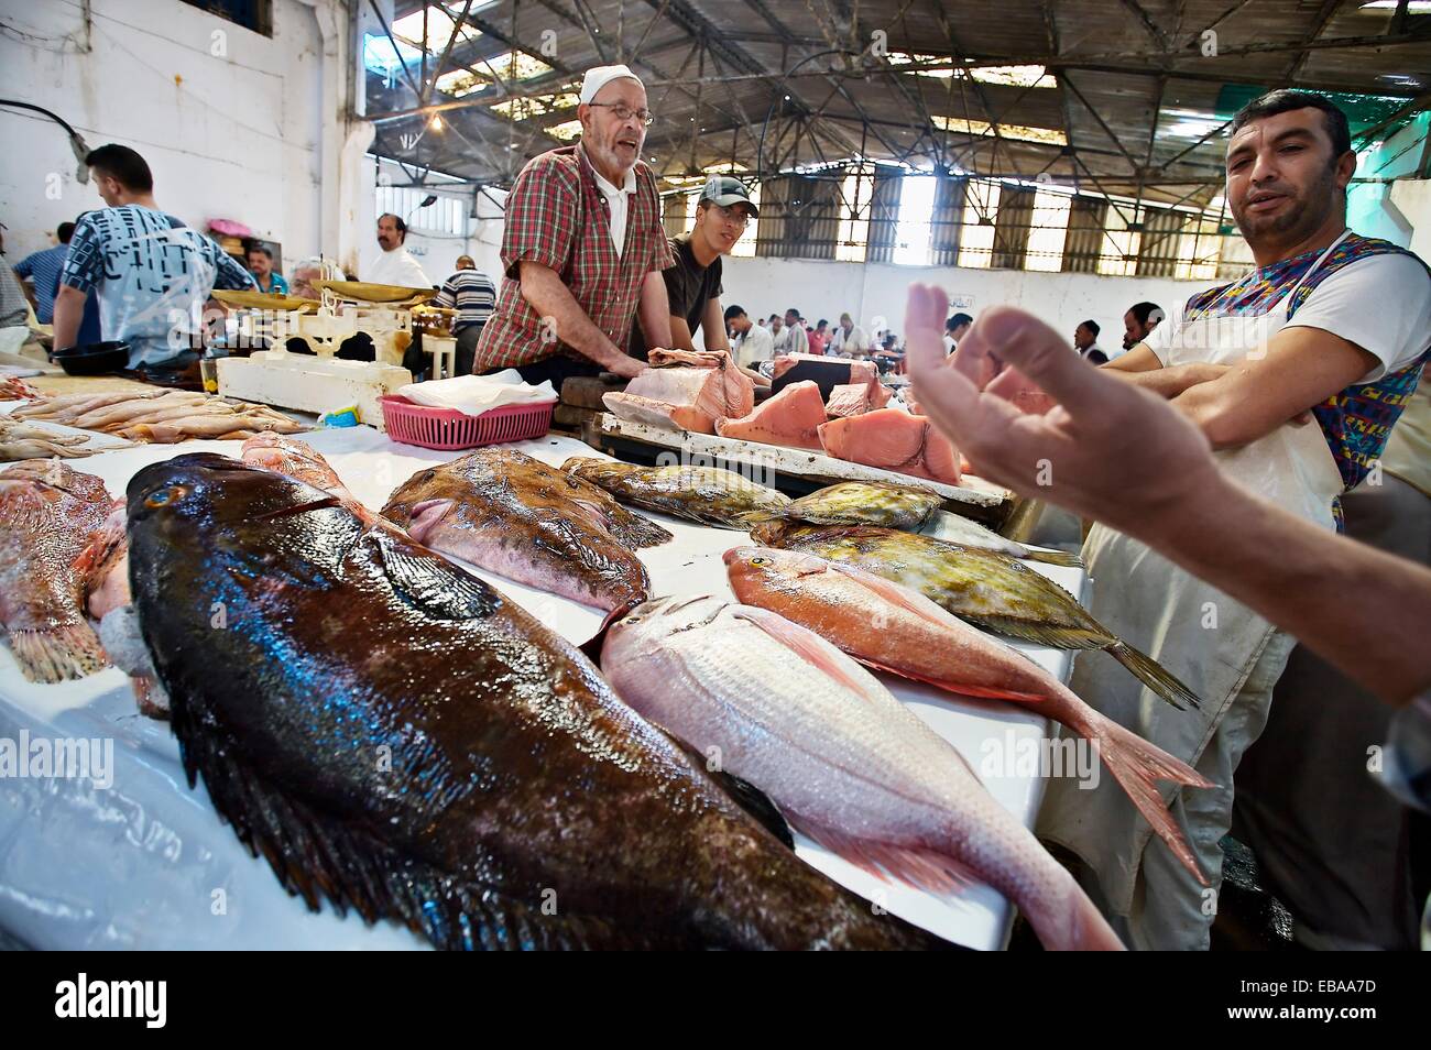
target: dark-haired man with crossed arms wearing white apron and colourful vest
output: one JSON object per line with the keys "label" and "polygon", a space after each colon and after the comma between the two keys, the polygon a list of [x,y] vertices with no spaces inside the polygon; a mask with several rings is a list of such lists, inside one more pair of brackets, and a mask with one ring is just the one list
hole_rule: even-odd
{"label": "dark-haired man with crossed arms wearing white apron and colourful vest", "polygon": [[[1105,366],[1171,398],[1228,475],[1328,529],[1415,389],[1431,332],[1424,263],[1347,229],[1349,139],[1345,114],[1321,96],[1274,92],[1245,107],[1228,144],[1226,199],[1256,269],[1192,296],[1182,316]],[[1089,704],[1218,784],[1165,791],[1208,885],[1109,784],[1052,781],[1037,830],[1088,865],[1088,888],[1129,947],[1205,948],[1232,772],[1262,731],[1295,639],[1105,526],[1083,556],[1093,615],[1202,698],[1176,711],[1100,654],[1075,665],[1073,688]]]}

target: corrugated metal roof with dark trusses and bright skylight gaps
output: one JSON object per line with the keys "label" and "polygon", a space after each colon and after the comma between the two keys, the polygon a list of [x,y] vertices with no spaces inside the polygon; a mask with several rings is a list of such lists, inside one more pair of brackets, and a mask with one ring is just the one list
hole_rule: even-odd
{"label": "corrugated metal roof with dark trusses and bright skylight gaps", "polygon": [[[1385,96],[1364,123],[1431,102],[1431,16],[1398,21],[1364,1],[449,0],[426,4],[432,23],[465,9],[478,36],[454,44],[442,73],[479,74],[478,90],[435,90],[424,106],[414,62],[414,83],[401,70],[369,73],[366,106],[381,117],[376,152],[502,185],[558,144],[545,129],[575,112],[518,107],[511,119],[492,106],[620,60],[647,82],[657,120],[645,153],[673,176],[717,163],[770,175],[859,152],[922,170],[1042,172],[1115,195],[1205,202],[1218,193],[1232,100],[1278,86]],[[395,19],[422,6],[399,1]],[[429,43],[429,79],[445,44]],[[551,69],[494,77],[484,60],[514,50]],[[943,69],[892,64],[902,56]],[[973,72],[1037,64],[1055,87]],[[432,106],[445,127],[414,143]]]}

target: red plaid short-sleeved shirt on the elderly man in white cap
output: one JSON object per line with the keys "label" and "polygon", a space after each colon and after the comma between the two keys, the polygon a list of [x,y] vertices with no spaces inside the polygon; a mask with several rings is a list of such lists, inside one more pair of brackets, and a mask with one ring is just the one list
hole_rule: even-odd
{"label": "red plaid short-sleeved shirt on the elderly man in white cap", "polygon": [[612,343],[625,346],[645,275],[675,265],[651,169],[637,162],[625,249],[618,259],[611,246],[611,216],[581,146],[554,149],[528,162],[507,197],[507,270],[497,310],[477,343],[475,372],[531,365],[557,353],[587,360],[545,330],[537,310],[522,299],[522,262],[555,270],[591,322]]}

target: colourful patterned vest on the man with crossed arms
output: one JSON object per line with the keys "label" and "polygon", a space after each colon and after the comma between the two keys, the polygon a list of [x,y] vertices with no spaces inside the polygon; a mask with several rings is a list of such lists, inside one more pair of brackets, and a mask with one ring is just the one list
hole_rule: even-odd
{"label": "colourful patterned vest on the man with crossed arms", "polygon": [[[1308,273],[1308,269],[1317,262],[1321,253],[1321,249],[1304,252],[1291,259],[1282,259],[1271,266],[1252,270],[1231,285],[1198,292],[1188,299],[1183,323],[1202,316],[1209,308],[1213,316],[1219,318],[1266,313]],[[1415,255],[1392,245],[1390,240],[1352,233],[1296,289],[1295,298],[1288,305],[1288,322],[1295,320],[1296,312],[1329,276],[1354,262],[1378,255],[1404,255],[1421,262]],[[1428,272],[1427,278],[1425,293],[1431,295],[1431,272]],[[1398,303],[1397,306],[1417,308],[1410,303]],[[1355,308],[1384,310],[1388,309],[1388,305],[1361,302]],[[1422,308],[1424,305],[1417,309]],[[1337,469],[1341,472],[1342,485],[1347,492],[1357,488],[1371,472],[1372,465],[1381,458],[1387,439],[1391,436],[1391,428],[1417,389],[1417,381],[1421,378],[1421,369],[1425,365],[1428,350],[1431,350],[1431,332],[1424,335],[1424,340],[1411,363],[1401,365],[1395,371],[1387,372],[1371,382],[1354,383],[1312,408],[1312,415],[1322,428],[1322,435],[1327,438],[1332,459],[1337,461]],[[1339,531],[1342,524],[1341,506],[1337,505],[1332,509]]]}

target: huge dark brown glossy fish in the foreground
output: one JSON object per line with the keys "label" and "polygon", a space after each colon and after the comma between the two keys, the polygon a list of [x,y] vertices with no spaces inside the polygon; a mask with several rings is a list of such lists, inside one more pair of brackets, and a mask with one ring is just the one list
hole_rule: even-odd
{"label": "huge dark brown glossy fish in the foreground", "polygon": [[[498,591],[215,455],[129,485],[190,782],[282,884],[441,947],[933,947],[800,861]],[[215,674],[222,668],[222,674]]]}

